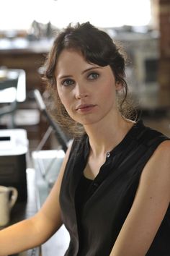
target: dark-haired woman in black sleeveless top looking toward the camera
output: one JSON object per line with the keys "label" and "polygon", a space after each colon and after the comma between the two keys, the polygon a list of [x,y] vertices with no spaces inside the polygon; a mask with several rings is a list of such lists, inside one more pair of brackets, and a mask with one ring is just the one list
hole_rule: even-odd
{"label": "dark-haired woman in black sleeveless top looking toward the camera", "polygon": [[45,67],[55,117],[75,139],[40,211],[0,232],[0,255],[42,244],[62,223],[69,256],[170,255],[170,142],[128,118],[117,46],[89,22],[69,26]]}

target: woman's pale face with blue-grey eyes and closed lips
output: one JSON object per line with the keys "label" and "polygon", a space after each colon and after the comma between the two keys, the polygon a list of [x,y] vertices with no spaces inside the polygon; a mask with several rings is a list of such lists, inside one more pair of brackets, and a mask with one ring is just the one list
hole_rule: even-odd
{"label": "woman's pale face with blue-grey eyes and closed lips", "polygon": [[89,64],[79,51],[63,50],[55,68],[58,95],[72,119],[94,124],[117,111],[121,86],[109,66]]}

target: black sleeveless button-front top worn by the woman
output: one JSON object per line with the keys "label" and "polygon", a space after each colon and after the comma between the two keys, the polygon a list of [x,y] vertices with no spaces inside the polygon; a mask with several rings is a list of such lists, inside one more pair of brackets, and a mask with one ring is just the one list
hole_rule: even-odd
{"label": "black sleeveless button-front top worn by the woman", "polygon": [[[89,139],[84,135],[74,140],[60,194],[63,223],[71,236],[67,256],[109,256],[133,204],[143,167],[164,140],[169,138],[138,121],[107,155],[93,181],[83,176]],[[170,255],[170,206],[146,255]]]}

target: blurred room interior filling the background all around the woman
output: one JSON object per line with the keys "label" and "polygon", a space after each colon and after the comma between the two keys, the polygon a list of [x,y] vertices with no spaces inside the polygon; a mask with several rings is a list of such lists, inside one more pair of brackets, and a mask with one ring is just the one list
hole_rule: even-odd
{"label": "blurred room interior filling the background all around the woman", "polygon": [[[169,0],[1,0],[0,183],[19,192],[10,223],[35,214],[57,179],[66,143],[61,147],[61,131],[58,140],[43,108],[42,65],[55,34],[86,21],[124,48],[139,116],[170,137]],[[63,256],[68,242],[62,226],[41,248],[19,256]]]}

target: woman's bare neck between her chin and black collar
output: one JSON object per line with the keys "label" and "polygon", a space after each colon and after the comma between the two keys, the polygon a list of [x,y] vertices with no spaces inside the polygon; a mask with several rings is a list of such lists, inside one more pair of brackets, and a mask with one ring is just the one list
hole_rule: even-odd
{"label": "woman's bare neck between her chin and black collar", "polygon": [[124,119],[119,114],[107,121],[107,126],[102,120],[84,127],[89,136],[91,155],[94,157],[106,155],[121,142],[132,126],[133,121]]}

